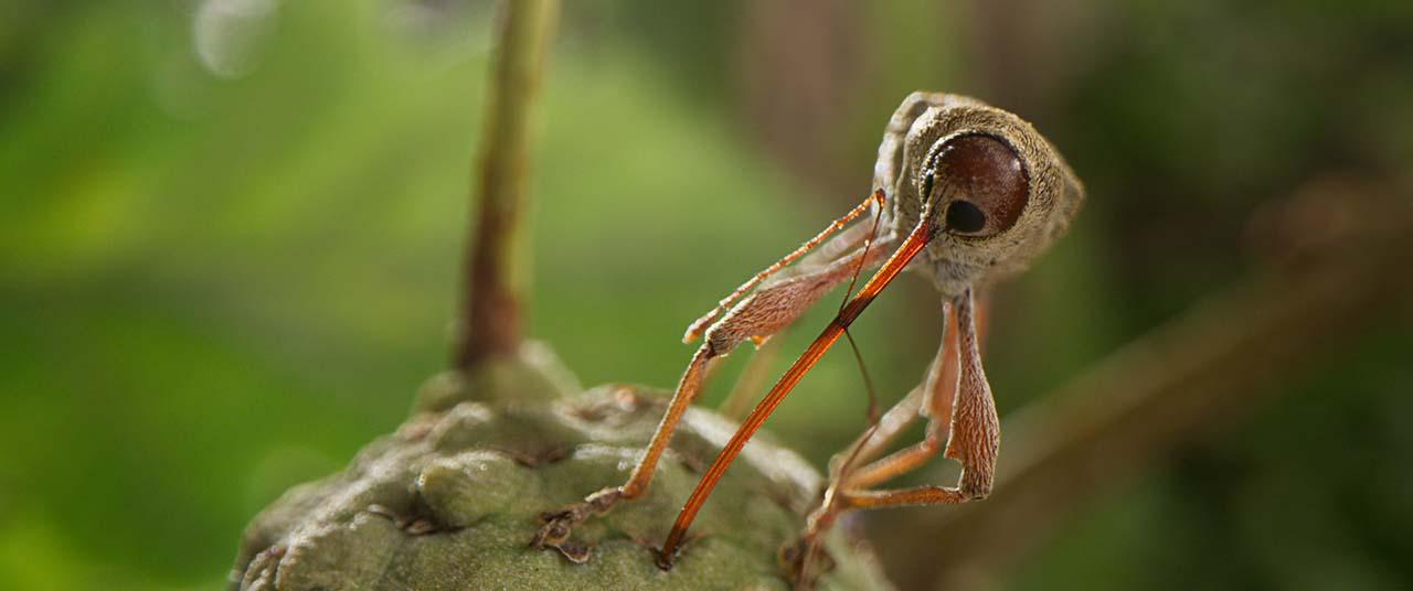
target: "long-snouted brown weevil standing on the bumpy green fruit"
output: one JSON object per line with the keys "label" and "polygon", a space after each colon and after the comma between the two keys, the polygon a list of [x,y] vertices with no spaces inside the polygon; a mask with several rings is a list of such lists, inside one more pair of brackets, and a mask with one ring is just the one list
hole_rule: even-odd
{"label": "long-snouted brown weevil standing on the bumpy green fruit", "polygon": [[[746,340],[769,339],[831,288],[873,267],[879,271],[839,309],[706,468],[677,516],[658,564],[671,567],[692,519],[746,441],[904,269],[916,269],[933,281],[942,299],[942,324],[951,324],[952,330],[945,331],[923,386],[831,463],[824,501],[811,513],[798,547],[787,554],[798,564],[808,564],[818,536],[844,511],[959,504],[989,494],[1000,423],[981,364],[974,292],[1022,271],[1058,238],[1084,200],[1084,189],[1056,148],[1020,117],[976,99],[924,92],[909,95],[889,120],[873,183],[875,192],[863,203],[756,274],[687,329],[684,341],[701,337],[702,346],[629,480],[545,513],[534,544],[558,547],[575,525],[643,495],[712,360]],[[870,210],[877,216],[876,224],[858,220]],[[796,264],[791,274],[777,275],[791,264]],[[924,440],[877,458],[920,410],[928,416]],[[955,487],[872,488],[917,468],[940,451],[962,464]]]}

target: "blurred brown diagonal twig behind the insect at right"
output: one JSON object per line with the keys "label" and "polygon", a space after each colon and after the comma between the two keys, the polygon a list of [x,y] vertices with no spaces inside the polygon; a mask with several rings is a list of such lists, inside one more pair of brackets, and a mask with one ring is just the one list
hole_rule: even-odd
{"label": "blurred brown diagonal twig behind the insect at right", "polygon": [[1351,231],[1307,244],[1007,418],[985,502],[879,515],[879,532],[927,532],[877,536],[894,581],[933,588],[991,578],[1081,501],[1229,420],[1266,385],[1378,322],[1386,303],[1413,289],[1413,213],[1396,200],[1351,202],[1365,207]]}

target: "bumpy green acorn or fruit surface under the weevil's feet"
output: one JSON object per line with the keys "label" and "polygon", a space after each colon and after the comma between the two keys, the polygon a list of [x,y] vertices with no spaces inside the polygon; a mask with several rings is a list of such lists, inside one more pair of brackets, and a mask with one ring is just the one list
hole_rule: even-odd
{"label": "bumpy green acorn or fruit surface under the weevil's feet", "polygon": [[[538,515],[623,481],[666,405],[606,385],[577,394],[543,347],[445,374],[396,433],[339,474],[295,487],[246,529],[232,590],[771,590],[820,475],[757,437],[706,504],[677,567],[661,542],[735,425],[691,409],[650,492],[574,532],[567,552],[530,547]],[[821,588],[889,588],[868,552],[835,533]],[[568,556],[585,557],[575,564]]]}

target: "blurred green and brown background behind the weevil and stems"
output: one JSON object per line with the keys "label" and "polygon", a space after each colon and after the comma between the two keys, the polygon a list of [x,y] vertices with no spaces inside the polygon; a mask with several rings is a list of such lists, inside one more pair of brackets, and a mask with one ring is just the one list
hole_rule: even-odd
{"label": "blurred green and brown background behind the weevil and stems", "polygon": [[[1259,265],[1263,203],[1413,183],[1405,0],[567,4],[528,324],[591,385],[674,384],[685,323],[866,195],[916,89],[1033,120],[1089,189],[996,292],[1003,413]],[[448,357],[492,14],[7,3],[0,588],[218,587],[250,516],[398,425]],[[906,284],[856,330],[886,401],[940,330]],[[1375,315],[981,581],[1413,587],[1413,312]],[[822,465],[863,423],[835,351],[769,429]]]}

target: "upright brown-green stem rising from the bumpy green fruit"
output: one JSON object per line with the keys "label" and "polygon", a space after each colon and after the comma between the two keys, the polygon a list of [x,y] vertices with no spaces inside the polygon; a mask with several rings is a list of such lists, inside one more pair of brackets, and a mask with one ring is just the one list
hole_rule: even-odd
{"label": "upright brown-green stem rising from the bumpy green fruit", "polygon": [[479,147],[478,229],[469,241],[452,365],[466,370],[520,346],[530,258],[523,231],[530,118],[544,78],[558,0],[500,3],[497,47]]}

